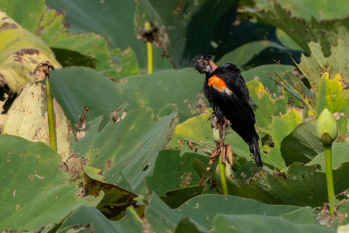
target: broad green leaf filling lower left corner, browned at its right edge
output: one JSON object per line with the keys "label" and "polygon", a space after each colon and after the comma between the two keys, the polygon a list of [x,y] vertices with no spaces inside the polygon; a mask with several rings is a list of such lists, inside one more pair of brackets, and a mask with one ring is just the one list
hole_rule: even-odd
{"label": "broad green leaf filling lower left corner, browned at its right edge", "polygon": [[80,179],[58,168],[61,157],[44,143],[0,134],[0,230],[39,229],[59,223],[81,205],[95,206],[103,195],[84,197]]}

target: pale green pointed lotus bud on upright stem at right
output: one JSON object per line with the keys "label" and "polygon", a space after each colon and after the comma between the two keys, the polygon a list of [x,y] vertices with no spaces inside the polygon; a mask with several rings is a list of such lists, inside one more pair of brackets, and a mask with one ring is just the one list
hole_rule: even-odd
{"label": "pale green pointed lotus bud on upright stem at right", "polygon": [[337,122],[327,108],[321,112],[316,127],[316,136],[324,145],[332,145],[338,136]]}

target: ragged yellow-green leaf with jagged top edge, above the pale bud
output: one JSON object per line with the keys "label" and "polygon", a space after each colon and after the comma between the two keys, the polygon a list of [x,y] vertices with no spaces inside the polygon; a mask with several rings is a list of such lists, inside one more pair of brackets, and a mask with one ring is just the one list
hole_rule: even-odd
{"label": "ragged yellow-green leaf with jagged top edge, above the pale bud", "polygon": [[[309,80],[312,90],[304,88],[294,75],[289,76],[292,81],[288,86],[292,94],[302,99],[315,118],[325,108],[331,112],[343,111],[349,114],[349,46],[343,38],[338,38],[337,44],[336,47],[331,45],[332,53],[325,57],[320,43],[310,42],[311,56],[302,54],[300,63],[296,64]],[[285,82],[285,76],[281,77],[278,73],[276,76],[276,80]]]}

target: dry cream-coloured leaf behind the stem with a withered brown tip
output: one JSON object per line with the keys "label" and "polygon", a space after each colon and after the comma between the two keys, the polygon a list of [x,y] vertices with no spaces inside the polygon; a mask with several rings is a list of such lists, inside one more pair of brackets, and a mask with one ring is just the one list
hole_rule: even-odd
{"label": "dry cream-coloured leaf behind the stem with a withered brown tip", "polygon": [[[70,140],[68,120],[61,105],[53,99],[57,151],[65,162],[69,156]],[[50,145],[47,123],[46,87],[40,83],[25,85],[22,93],[13,102],[3,122],[2,133],[20,136],[29,141],[41,141]]]}

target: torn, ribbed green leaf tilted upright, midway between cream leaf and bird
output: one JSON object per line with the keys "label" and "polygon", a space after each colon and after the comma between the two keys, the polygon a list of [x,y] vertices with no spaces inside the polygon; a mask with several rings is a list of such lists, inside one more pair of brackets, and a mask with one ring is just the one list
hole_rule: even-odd
{"label": "torn, ribbed green leaf tilted upright, midway between cream leaf and bird", "polygon": [[[123,105],[121,109],[127,108]],[[94,119],[86,135],[72,148],[77,156],[87,159],[87,165],[101,169],[106,182],[121,185],[121,171],[134,192],[145,194],[144,176],[153,173],[156,155],[168,143],[178,119],[173,113],[155,122],[149,107],[126,112],[118,122],[109,121],[103,129],[103,118]]]}

